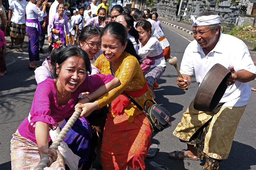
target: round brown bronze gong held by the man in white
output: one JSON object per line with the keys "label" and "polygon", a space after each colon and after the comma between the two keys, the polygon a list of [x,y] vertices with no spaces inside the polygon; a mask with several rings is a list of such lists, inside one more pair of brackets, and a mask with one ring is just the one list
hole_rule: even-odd
{"label": "round brown bronze gong held by the man in white", "polygon": [[226,80],[231,72],[221,64],[215,64],[203,79],[194,100],[194,109],[211,112],[220,102],[227,85]]}

